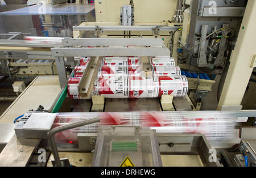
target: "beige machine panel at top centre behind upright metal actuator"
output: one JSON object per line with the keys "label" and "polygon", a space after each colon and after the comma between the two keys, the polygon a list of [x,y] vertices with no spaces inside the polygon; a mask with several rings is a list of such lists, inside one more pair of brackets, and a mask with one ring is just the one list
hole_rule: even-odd
{"label": "beige machine panel at top centre behind upright metal actuator", "polygon": [[[100,3],[101,2],[101,3]],[[96,22],[119,22],[120,7],[130,0],[95,1]],[[172,19],[177,0],[134,0],[135,22],[157,23]]]}

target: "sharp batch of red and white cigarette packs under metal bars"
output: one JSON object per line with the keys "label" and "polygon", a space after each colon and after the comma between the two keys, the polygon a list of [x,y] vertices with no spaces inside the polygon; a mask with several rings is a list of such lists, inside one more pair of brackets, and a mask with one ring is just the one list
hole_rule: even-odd
{"label": "sharp batch of red and white cigarette packs under metal bars", "polygon": [[[69,97],[79,99],[77,86],[85,71],[89,57],[82,57],[75,68],[74,77],[69,78]],[[151,57],[152,76],[142,69],[140,57],[104,57],[94,80],[93,95],[105,98],[155,98],[172,94],[185,96],[188,81],[181,76],[172,57]]]}

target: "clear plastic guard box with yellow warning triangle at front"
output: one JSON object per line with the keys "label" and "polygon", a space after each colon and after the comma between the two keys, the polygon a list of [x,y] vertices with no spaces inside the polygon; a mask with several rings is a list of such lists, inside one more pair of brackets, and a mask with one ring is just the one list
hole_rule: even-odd
{"label": "clear plastic guard box with yellow warning triangle at front", "polygon": [[92,166],[162,166],[155,130],[134,126],[101,126]]}

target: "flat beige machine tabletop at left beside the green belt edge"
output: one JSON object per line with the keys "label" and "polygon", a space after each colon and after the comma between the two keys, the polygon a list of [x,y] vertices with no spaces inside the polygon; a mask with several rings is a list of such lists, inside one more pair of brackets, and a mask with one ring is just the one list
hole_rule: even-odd
{"label": "flat beige machine tabletop at left beside the green belt edge", "polygon": [[0,123],[13,123],[19,115],[36,110],[39,105],[51,108],[60,92],[58,76],[39,76],[19,95],[0,117]]}

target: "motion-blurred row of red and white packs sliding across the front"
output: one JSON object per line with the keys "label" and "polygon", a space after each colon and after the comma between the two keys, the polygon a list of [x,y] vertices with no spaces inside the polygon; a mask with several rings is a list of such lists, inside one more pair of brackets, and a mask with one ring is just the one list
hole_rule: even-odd
{"label": "motion-blurred row of red and white packs sliding across the front", "polygon": [[78,133],[97,133],[101,125],[140,126],[158,133],[201,133],[208,140],[228,140],[234,135],[236,115],[227,111],[162,111],[127,113],[59,113],[53,127],[84,119],[100,118],[99,123],[56,134],[59,143],[77,143]]}

